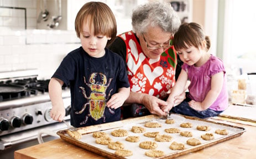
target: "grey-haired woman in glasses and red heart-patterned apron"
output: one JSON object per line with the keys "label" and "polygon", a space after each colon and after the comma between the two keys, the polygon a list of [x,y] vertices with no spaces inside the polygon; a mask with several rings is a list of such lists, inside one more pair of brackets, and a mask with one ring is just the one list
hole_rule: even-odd
{"label": "grey-haired woman in glasses and red heart-patterned apron", "polygon": [[[125,103],[138,103],[152,114],[166,116],[161,107],[166,105],[169,90],[175,84],[175,69],[179,72],[181,65],[177,65],[176,52],[171,46],[180,19],[170,4],[149,2],[133,10],[132,26],[132,31],[118,35],[109,46],[127,64],[130,95]],[[177,96],[176,102],[184,98],[185,94]],[[137,107],[132,109],[136,111]]]}

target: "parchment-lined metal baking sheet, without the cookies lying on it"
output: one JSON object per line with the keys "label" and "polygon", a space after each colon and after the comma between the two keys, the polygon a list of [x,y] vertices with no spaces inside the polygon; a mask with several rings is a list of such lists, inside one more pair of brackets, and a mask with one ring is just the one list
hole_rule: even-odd
{"label": "parchment-lined metal baking sheet, without the cookies lying on it", "polygon": [[[97,126],[98,130],[96,130],[95,127],[91,127],[92,131],[90,131],[90,129],[86,128],[85,129],[80,129],[83,132],[82,138],[80,140],[75,140],[70,138],[69,135],[67,135],[65,133],[65,130],[61,130],[58,131],[58,135],[60,135],[60,137],[63,140],[66,140],[68,142],[71,142],[72,144],[75,144],[77,146],[83,147],[84,149],[87,149],[89,151],[98,153],[102,156],[106,156],[108,158],[128,158],[128,159],[146,159],[146,158],[152,158],[152,157],[148,157],[145,156],[145,149],[141,149],[139,147],[139,143],[142,141],[155,141],[154,138],[148,138],[146,136],[144,136],[143,134],[145,132],[154,132],[154,131],[159,131],[159,134],[168,134],[171,135],[173,137],[173,139],[170,142],[158,142],[155,141],[158,144],[158,147],[156,148],[156,150],[161,150],[165,152],[165,156],[163,157],[158,157],[158,158],[174,158],[177,156],[181,156],[181,155],[185,155],[186,153],[190,153],[193,151],[197,151],[200,149],[203,149],[205,147],[211,146],[211,145],[215,145],[219,142],[228,140],[228,139],[232,139],[235,138],[236,136],[242,135],[243,132],[245,131],[244,128],[240,128],[240,127],[234,127],[233,125],[227,125],[227,124],[223,124],[223,123],[216,123],[216,122],[212,122],[212,121],[208,121],[208,120],[202,120],[202,119],[198,119],[198,118],[193,118],[193,117],[185,117],[185,116],[180,116],[180,115],[176,115],[176,114],[171,114],[171,117],[174,118],[175,123],[174,124],[166,124],[165,120],[166,119],[161,119],[157,116],[149,116],[148,118],[133,118],[132,119],[128,119],[127,122],[124,123],[118,123],[117,124],[113,124],[111,125],[106,125],[107,127],[104,126],[104,124],[100,124]],[[161,128],[147,128],[144,127],[145,122],[158,122],[161,123],[162,127]],[[184,122],[190,122],[193,124],[192,128],[181,128],[180,124],[184,123]],[[116,123],[116,122],[114,122]],[[102,125],[102,126],[101,126]],[[140,126],[140,127],[144,127],[146,129],[146,131],[144,133],[133,133],[131,131],[132,127],[136,125],[136,126]],[[207,125],[211,127],[210,131],[199,131],[196,129],[197,125]],[[197,145],[197,146],[190,146],[186,144],[186,140],[190,139],[184,136],[180,136],[180,134],[169,134],[166,133],[164,131],[164,129],[167,128],[179,128],[181,131],[191,131],[193,136],[192,138],[197,138],[201,141],[201,145]],[[139,142],[128,142],[125,139],[127,138],[127,136],[124,137],[115,137],[111,135],[111,132],[115,129],[125,129],[128,131],[128,136],[129,135],[138,135],[140,136],[140,141]],[[228,135],[218,135],[215,133],[216,129],[227,129],[229,134]],[[128,149],[128,150],[132,150],[133,151],[133,155],[132,156],[128,156],[128,157],[120,157],[117,155],[114,155],[114,152],[116,150],[111,150],[108,149],[107,145],[100,145],[100,144],[96,144],[95,142],[95,138],[92,137],[92,133],[94,131],[105,131],[112,139],[112,141],[120,141],[124,144],[124,149]],[[210,140],[210,141],[206,141],[201,139],[201,135],[205,134],[205,133],[213,133],[215,136],[214,140]],[[171,145],[171,143],[173,141],[182,143],[185,145],[186,149],[185,150],[171,150],[169,148],[169,146]]]}

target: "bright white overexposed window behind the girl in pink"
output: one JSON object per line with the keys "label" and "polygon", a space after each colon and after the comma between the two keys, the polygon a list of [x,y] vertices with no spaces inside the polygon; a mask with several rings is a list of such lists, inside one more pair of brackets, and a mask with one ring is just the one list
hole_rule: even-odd
{"label": "bright white overexposed window behind the girl in pink", "polygon": [[222,3],[219,7],[224,4],[221,46],[224,62],[239,74],[256,72],[256,1],[225,0],[219,3]]}

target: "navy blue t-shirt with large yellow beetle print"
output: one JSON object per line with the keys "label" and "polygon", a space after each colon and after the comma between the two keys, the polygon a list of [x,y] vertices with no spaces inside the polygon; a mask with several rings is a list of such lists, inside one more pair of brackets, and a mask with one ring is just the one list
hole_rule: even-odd
{"label": "navy blue t-shirt with large yellow beetle print", "polygon": [[70,85],[71,125],[85,127],[120,120],[121,109],[106,102],[121,87],[129,87],[126,66],[116,53],[105,48],[100,58],[89,56],[82,47],[67,54],[52,78]]}

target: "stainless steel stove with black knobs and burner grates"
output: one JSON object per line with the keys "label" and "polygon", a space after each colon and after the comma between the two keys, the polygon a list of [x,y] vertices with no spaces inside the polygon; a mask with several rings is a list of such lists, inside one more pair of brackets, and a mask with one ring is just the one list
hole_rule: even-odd
{"label": "stainless steel stove with black knobs and burner grates", "polygon": [[[23,149],[26,142],[37,141],[42,130],[66,129],[64,123],[51,119],[49,80],[38,80],[38,70],[0,73],[0,156]],[[70,119],[70,89],[62,89],[66,117]],[[47,136],[47,135],[44,135]],[[1,157],[2,158],[2,157]],[[12,158],[9,156],[8,158]]]}

